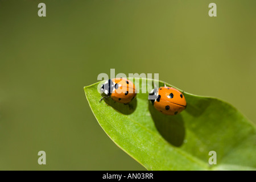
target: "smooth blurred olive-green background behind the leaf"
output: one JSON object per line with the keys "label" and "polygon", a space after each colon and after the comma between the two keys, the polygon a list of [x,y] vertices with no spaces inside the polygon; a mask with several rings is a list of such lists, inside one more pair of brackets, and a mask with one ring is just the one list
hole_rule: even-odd
{"label": "smooth blurred olive-green background behind the leaf", "polygon": [[[46,3],[46,17],[38,4]],[[209,17],[208,5],[217,5]],[[0,1],[0,169],[144,170],[104,133],[83,87],[159,73],[256,123],[256,1]],[[213,131],[214,132],[214,131]],[[46,151],[46,165],[38,151]]]}

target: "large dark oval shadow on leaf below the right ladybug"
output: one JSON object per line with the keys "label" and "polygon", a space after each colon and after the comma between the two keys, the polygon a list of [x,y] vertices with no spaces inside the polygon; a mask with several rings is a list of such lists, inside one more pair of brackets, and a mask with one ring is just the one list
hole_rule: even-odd
{"label": "large dark oval shadow on leaf below the right ladybug", "polygon": [[156,129],[158,129],[162,137],[173,146],[180,147],[185,137],[185,127],[181,115],[162,114],[155,109],[151,102],[148,102],[148,109]]}

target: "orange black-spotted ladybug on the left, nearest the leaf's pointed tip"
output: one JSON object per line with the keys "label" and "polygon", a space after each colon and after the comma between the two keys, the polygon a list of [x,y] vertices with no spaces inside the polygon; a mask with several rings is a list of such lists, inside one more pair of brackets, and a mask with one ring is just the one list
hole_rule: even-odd
{"label": "orange black-spotted ladybug on the left, nearest the leaf's pointed tip", "polygon": [[[123,104],[131,102],[137,94],[135,85],[125,78],[113,78],[101,85],[101,93],[105,93],[103,98],[111,97],[112,100]],[[100,100],[100,101],[101,101]]]}

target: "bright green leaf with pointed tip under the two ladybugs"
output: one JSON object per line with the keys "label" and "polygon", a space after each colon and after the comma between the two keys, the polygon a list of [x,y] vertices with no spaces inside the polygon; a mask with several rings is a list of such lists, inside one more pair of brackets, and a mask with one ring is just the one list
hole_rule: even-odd
{"label": "bright green leaf with pointed tip under the two ladybugs", "polygon": [[[129,80],[139,90],[129,105],[114,103],[110,98],[100,102],[100,82],[84,90],[105,133],[146,169],[256,169],[255,125],[232,105],[184,92],[187,108],[177,115],[164,115],[148,101],[148,94],[142,93],[152,80]],[[163,85],[160,81],[159,86]],[[216,151],[217,164],[209,164],[210,151]]]}

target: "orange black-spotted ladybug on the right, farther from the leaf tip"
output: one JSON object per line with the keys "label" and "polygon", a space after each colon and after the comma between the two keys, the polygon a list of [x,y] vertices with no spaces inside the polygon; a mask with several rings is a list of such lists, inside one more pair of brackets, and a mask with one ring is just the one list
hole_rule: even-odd
{"label": "orange black-spotted ladybug on the right, farther from the leaf tip", "polygon": [[153,89],[148,100],[151,100],[156,110],[167,115],[176,115],[187,107],[184,95],[170,86]]}

